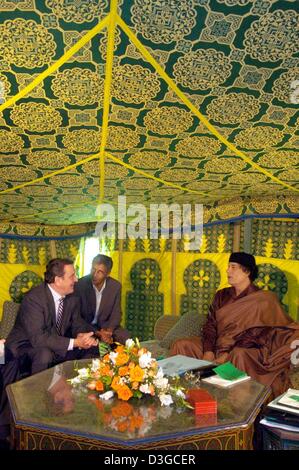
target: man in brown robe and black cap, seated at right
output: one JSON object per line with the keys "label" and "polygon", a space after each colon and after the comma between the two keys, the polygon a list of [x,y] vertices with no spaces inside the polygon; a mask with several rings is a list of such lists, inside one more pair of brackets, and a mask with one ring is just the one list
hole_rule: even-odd
{"label": "man in brown robe and black cap, seated at right", "polygon": [[284,312],[273,292],[253,284],[258,275],[254,256],[232,253],[227,275],[232,287],[216,293],[202,338],[175,341],[171,354],[218,364],[231,361],[253,379],[271,386],[277,396],[289,386],[290,357],[296,346],[293,341],[299,339],[299,324]]}

